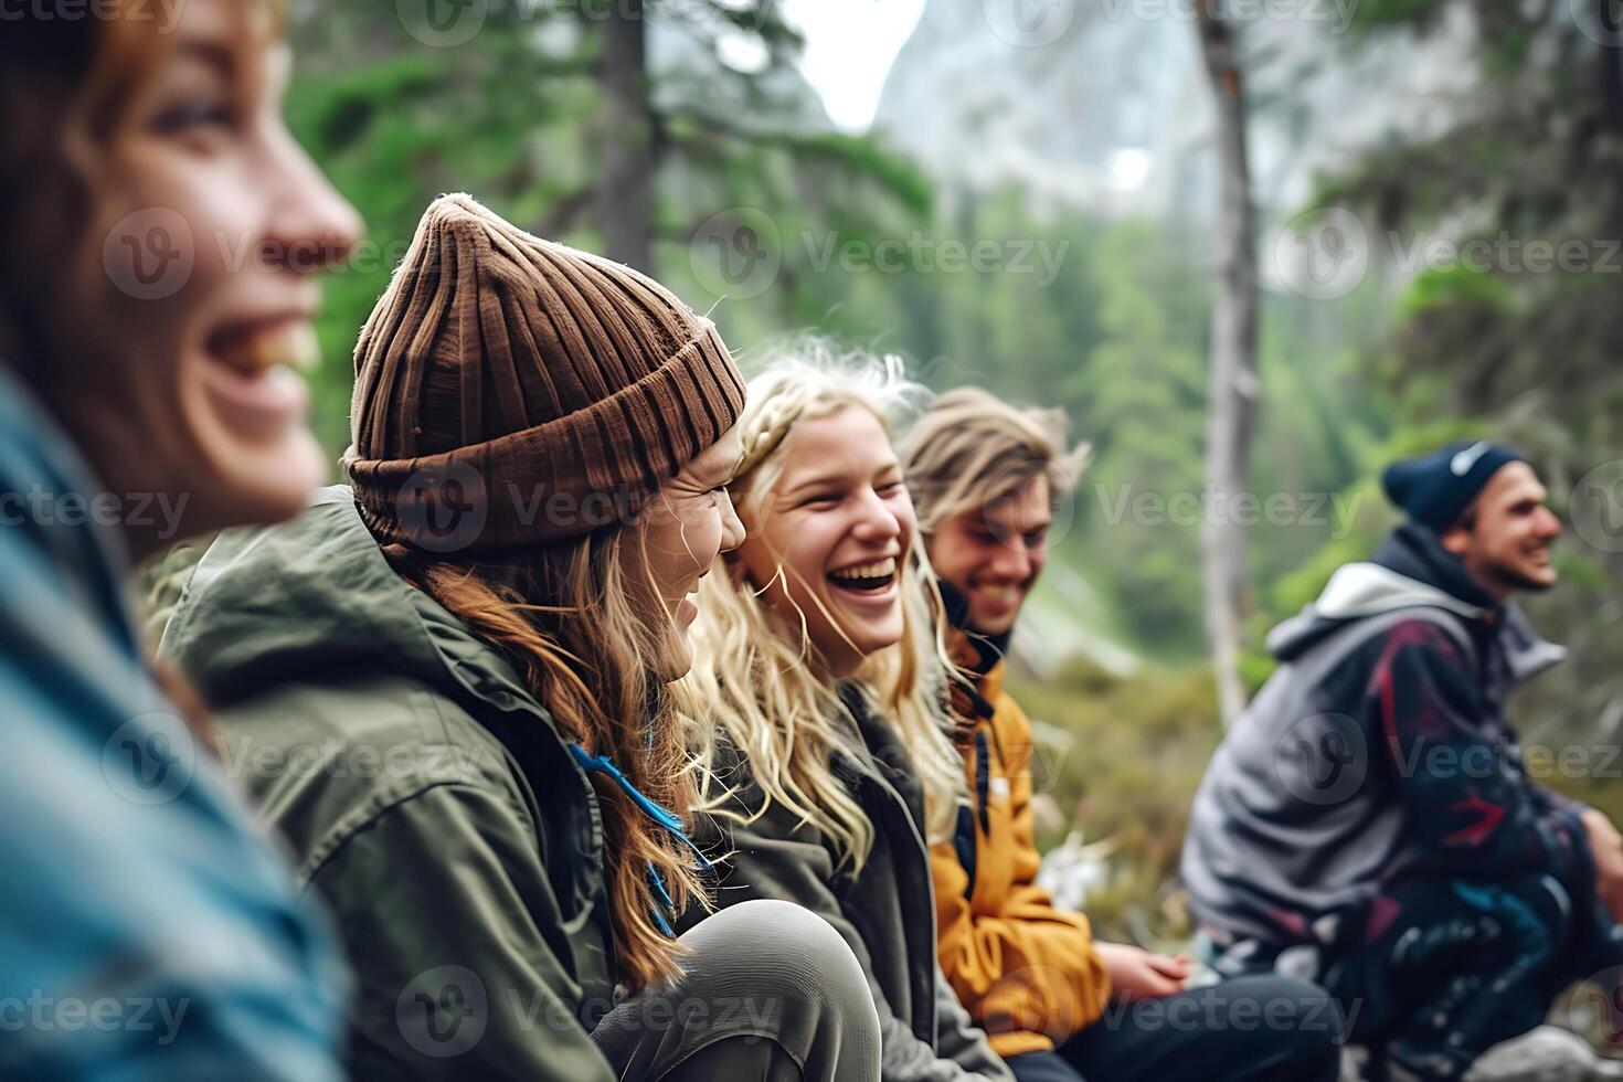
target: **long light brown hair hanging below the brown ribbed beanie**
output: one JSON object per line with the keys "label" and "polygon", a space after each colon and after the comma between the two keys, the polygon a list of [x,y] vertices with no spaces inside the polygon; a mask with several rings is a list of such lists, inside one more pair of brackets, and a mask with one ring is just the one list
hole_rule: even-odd
{"label": "long light brown hair hanging below the brown ribbed beanie", "polygon": [[[665,647],[670,616],[657,592],[626,571],[631,527],[506,558],[446,560],[404,545],[383,550],[396,573],[506,655],[566,740],[607,754],[644,796],[683,819],[698,801],[680,688],[654,676],[648,659]],[[708,907],[693,857],[620,788],[592,774],[604,811],[604,871],[622,978],[641,988],[678,975],[680,944],[656,923],[672,910]]]}

